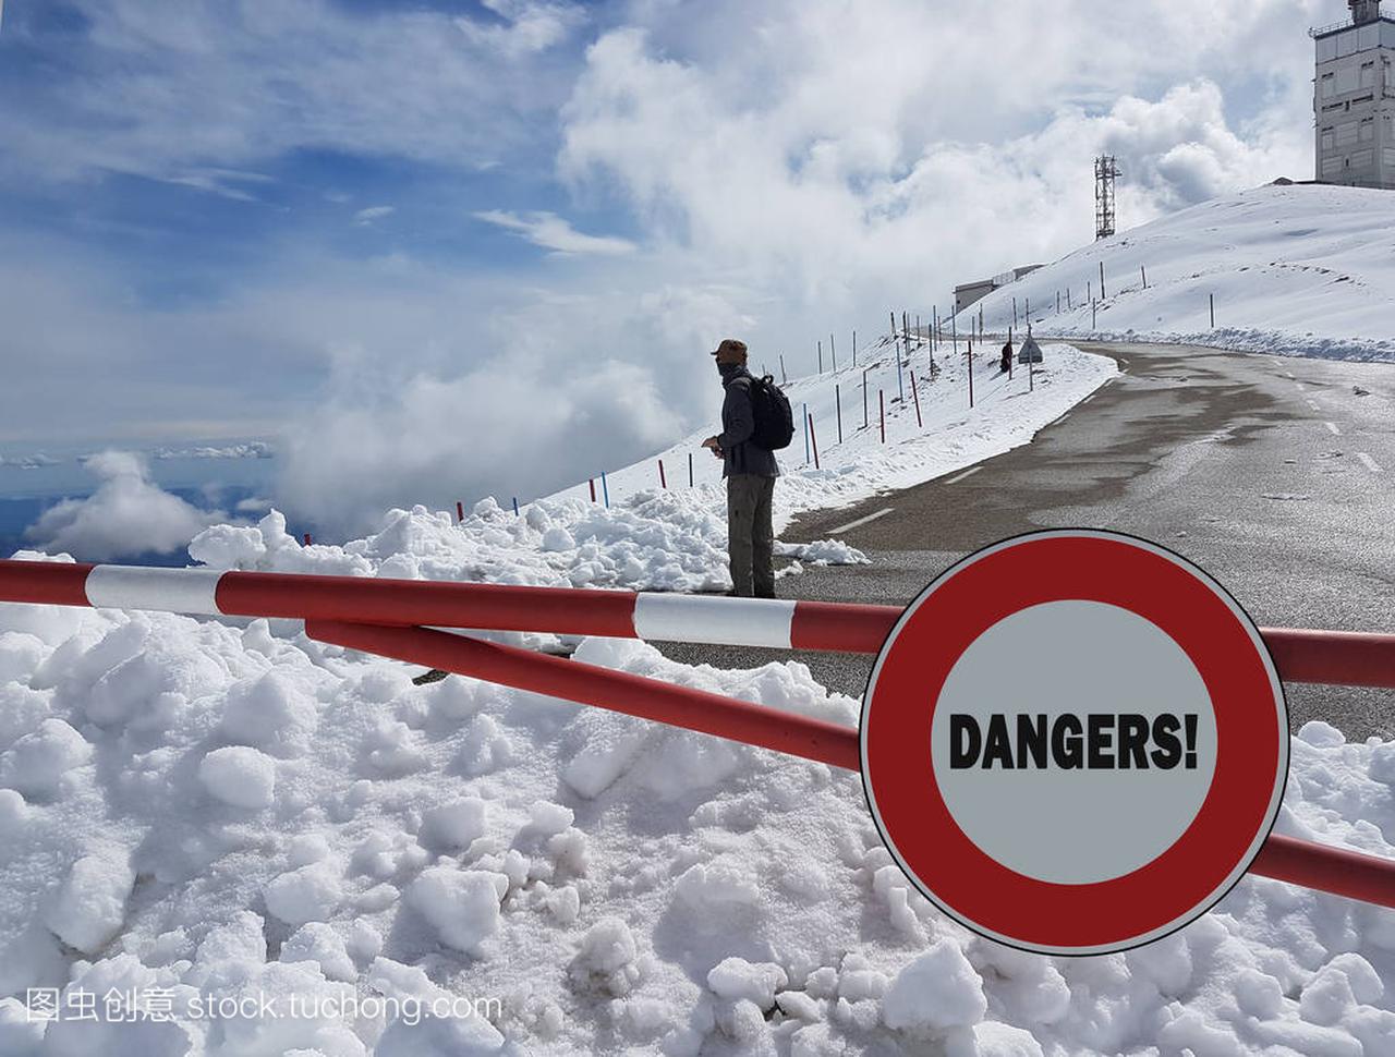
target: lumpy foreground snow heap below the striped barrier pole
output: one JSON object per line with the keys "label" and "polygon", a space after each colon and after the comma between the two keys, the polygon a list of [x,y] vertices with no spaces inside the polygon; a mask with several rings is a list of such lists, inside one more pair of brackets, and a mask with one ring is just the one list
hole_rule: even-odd
{"label": "lumpy foreground snow heap below the striped barrier pole", "polygon": [[[799,664],[579,658],[858,710]],[[1145,948],[1024,954],[910,888],[852,774],[409,676],[261,621],[0,605],[0,1053],[1395,1051],[1389,911],[1247,879]],[[1310,724],[1292,764],[1282,831],[1395,855],[1395,743]]]}

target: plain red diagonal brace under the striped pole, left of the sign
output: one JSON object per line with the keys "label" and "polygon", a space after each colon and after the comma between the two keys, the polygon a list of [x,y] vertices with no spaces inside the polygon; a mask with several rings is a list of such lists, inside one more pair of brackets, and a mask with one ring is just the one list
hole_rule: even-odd
{"label": "plain red diagonal brace under the striped pole, left of the sign", "polygon": [[855,728],[425,628],[308,621],[311,639],[857,771]]}

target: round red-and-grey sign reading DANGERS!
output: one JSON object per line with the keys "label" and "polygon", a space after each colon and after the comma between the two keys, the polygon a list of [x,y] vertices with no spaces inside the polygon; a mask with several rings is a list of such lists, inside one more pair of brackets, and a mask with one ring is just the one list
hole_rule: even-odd
{"label": "round red-and-grey sign reading DANGERS!", "polygon": [[1194,565],[1116,533],[953,566],[862,706],[862,781],[901,869],[975,931],[1046,954],[1205,913],[1258,855],[1288,764],[1258,629]]}

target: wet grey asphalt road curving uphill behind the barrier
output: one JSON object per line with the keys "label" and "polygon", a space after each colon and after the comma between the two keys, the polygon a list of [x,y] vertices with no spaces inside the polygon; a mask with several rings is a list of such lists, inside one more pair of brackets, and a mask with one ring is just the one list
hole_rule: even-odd
{"label": "wet grey asphalt road curving uphill behind the barrier", "polygon": [[[1395,630],[1395,365],[1193,346],[1085,344],[1123,375],[968,476],[808,515],[870,566],[810,569],[783,597],[905,604],[965,554],[1038,528],[1116,528],[1191,559],[1268,626]],[[1359,390],[1364,390],[1359,392]],[[795,657],[861,697],[872,658],[664,646],[689,662]],[[1296,731],[1395,738],[1395,692],[1289,686]]]}

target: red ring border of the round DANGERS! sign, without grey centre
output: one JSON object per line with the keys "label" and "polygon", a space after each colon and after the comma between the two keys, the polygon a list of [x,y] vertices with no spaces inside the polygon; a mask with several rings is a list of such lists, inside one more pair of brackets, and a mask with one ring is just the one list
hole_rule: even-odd
{"label": "red ring border of the round DANGERS! sign, without grey centre", "polygon": [[[1013,612],[1064,600],[1120,605],[1152,622],[1193,660],[1212,701],[1239,701],[1239,707],[1216,707],[1215,775],[1191,826],[1151,863],[1087,885],[1041,881],[989,859],[950,816],[935,781],[928,736],[939,689],[964,650]],[[894,651],[907,629],[917,640],[928,636],[932,647],[917,641],[912,654]],[[879,689],[903,701],[928,693],[929,711],[917,714],[903,706],[900,714],[873,724],[893,708],[887,704],[877,711]],[[897,720],[911,729],[900,729]],[[1265,731],[1269,722],[1274,728]],[[884,729],[890,733],[883,736]],[[859,746],[864,795],[877,832],[926,898],[965,927],[1020,950],[1106,954],[1183,927],[1222,899],[1249,869],[1274,827],[1288,782],[1288,703],[1254,622],[1193,562],[1124,533],[1048,530],[960,559],[907,607],[868,679]],[[884,768],[872,766],[873,753]],[[873,781],[873,771],[884,777]],[[1253,827],[1253,839],[1242,853],[1218,853],[1216,845],[1230,844],[1228,834],[1239,826]],[[912,834],[912,842],[898,846],[891,830]],[[936,881],[935,888],[925,876]],[[1140,906],[1154,908],[1141,929],[1129,925]]]}

